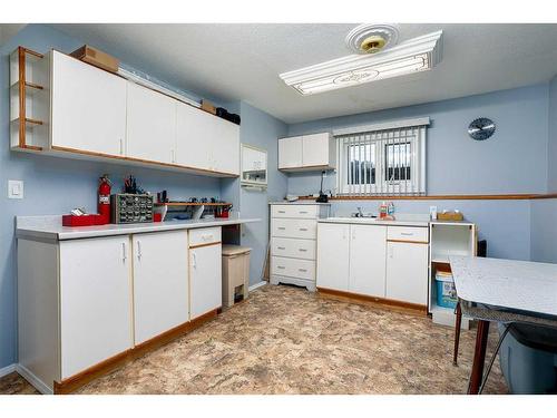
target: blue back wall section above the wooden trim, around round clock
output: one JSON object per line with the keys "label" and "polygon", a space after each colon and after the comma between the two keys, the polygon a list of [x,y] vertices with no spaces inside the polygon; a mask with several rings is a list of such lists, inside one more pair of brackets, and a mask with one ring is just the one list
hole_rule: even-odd
{"label": "blue back wall section above the wooden trim, around round clock", "polygon": [[[289,135],[429,116],[428,194],[545,193],[547,189],[548,85],[291,125]],[[486,142],[471,140],[468,124],[480,116],[497,124]],[[319,174],[289,178],[289,192]],[[334,185],[333,179],[330,179]],[[311,183],[307,183],[311,182]]]}

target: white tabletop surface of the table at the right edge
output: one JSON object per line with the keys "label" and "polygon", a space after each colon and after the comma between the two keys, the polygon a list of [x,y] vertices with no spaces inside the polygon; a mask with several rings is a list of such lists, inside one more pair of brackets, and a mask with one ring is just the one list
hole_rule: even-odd
{"label": "white tabletop surface of the table at the right edge", "polygon": [[557,315],[557,264],[453,255],[449,260],[460,299]]}

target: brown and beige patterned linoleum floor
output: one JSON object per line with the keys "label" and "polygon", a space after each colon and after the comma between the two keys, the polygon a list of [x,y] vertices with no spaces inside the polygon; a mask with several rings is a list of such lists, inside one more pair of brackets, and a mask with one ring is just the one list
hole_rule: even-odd
{"label": "brown and beige patterned linoleum floor", "polygon": [[[78,393],[466,393],[475,336],[453,367],[453,330],[429,318],[265,285]],[[32,392],[0,379],[0,393]],[[485,392],[507,392],[498,361]]]}

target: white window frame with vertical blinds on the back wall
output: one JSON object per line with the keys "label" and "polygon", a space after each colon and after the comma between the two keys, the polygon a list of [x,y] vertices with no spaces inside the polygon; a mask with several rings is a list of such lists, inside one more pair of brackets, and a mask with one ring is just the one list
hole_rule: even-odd
{"label": "white window frame with vertical blinds on the back wall", "polygon": [[[333,132],[336,138],[336,191],[339,195],[423,195],[426,194],[426,137],[429,118],[399,120]],[[401,133],[403,133],[402,139]],[[399,139],[397,139],[399,138]],[[388,146],[410,143],[409,181],[385,178]],[[375,183],[350,183],[349,149],[351,146],[375,144]],[[360,173],[361,175],[361,173]]]}

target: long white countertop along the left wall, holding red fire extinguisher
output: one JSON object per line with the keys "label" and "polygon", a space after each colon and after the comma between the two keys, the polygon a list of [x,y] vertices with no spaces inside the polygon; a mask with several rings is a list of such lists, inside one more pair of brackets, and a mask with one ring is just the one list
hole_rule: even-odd
{"label": "long white countertop along the left wall, holding red fire extinguisher", "polygon": [[16,216],[18,239],[65,241],[98,236],[138,234],[143,232],[190,230],[196,227],[237,225],[260,222],[260,218],[215,218],[166,221],[137,224],[107,224],[94,226],[62,226],[61,216]]}

